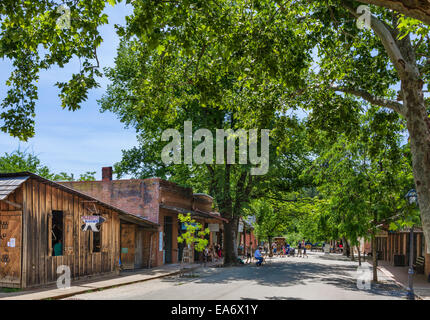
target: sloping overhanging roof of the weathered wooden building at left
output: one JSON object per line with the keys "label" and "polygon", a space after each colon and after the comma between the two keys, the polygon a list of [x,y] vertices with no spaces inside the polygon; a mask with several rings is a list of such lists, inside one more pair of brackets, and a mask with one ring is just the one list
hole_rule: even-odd
{"label": "sloping overhanging roof of the weathered wooden building at left", "polygon": [[[41,183],[50,185],[50,186],[52,186],[54,188],[63,190],[65,192],[77,195],[77,196],[79,196],[81,198],[84,198],[86,200],[95,202],[98,205],[100,205],[102,207],[105,207],[107,209],[114,210],[114,211],[116,211],[116,212],[119,213],[119,217],[120,217],[121,220],[128,221],[128,222],[131,222],[131,223],[135,223],[135,224],[138,224],[138,225],[141,225],[143,227],[150,228],[150,229],[158,229],[158,227],[160,226],[158,223],[155,223],[155,222],[149,221],[148,219],[145,219],[145,218],[136,216],[134,214],[128,213],[128,212],[126,212],[126,211],[124,211],[124,210],[122,210],[120,208],[114,207],[114,206],[112,206],[110,204],[107,204],[107,203],[105,203],[103,201],[100,201],[100,200],[98,200],[96,198],[93,198],[93,197],[91,197],[91,196],[89,196],[89,195],[87,195],[85,193],[81,193],[81,192],[79,192],[79,191],[77,191],[75,189],[66,187],[66,186],[64,186],[62,184],[56,183],[54,181],[51,181],[51,180],[48,180],[48,179],[45,179],[45,178],[42,178],[41,176],[38,176],[37,174],[31,173],[31,172],[0,173],[0,181],[15,181],[15,182],[13,182],[14,184],[17,184],[18,181],[21,181],[21,183],[17,187],[15,187],[14,190],[16,190],[28,178],[35,179],[35,180],[37,180],[37,181],[39,181]],[[10,183],[12,183],[12,182],[10,182]],[[6,182],[5,182],[5,184],[6,184]],[[1,186],[0,186],[0,190],[1,190]],[[6,190],[6,188],[5,188],[5,190]],[[10,193],[12,193],[12,192],[13,191],[11,191]],[[6,193],[6,191],[5,191],[5,193]],[[3,200],[5,198],[1,198],[0,197],[0,200]]]}

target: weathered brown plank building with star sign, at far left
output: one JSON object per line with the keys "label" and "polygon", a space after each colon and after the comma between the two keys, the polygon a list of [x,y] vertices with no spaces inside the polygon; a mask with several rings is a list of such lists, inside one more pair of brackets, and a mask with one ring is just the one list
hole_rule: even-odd
{"label": "weathered brown plank building with star sign, at far left", "polygon": [[[95,232],[83,217],[102,217]],[[150,266],[159,225],[29,172],[0,174],[0,287],[56,282]]]}

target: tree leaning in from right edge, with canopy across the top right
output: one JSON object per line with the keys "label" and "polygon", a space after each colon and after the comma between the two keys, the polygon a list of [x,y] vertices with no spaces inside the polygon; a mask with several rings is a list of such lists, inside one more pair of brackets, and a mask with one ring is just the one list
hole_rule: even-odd
{"label": "tree leaning in from right edge, with canopy across the top right", "polygon": [[[127,28],[120,31],[158,48],[166,59],[180,54],[192,61],[184,68],[186,81],[198,79],[199,85],[207,85],[210,81],[202,66],[223,70],[225,64],[229,71],[240,73],[238,82],[251,90],[263,81],[276,84],[283,101],[265,108],[310,109],[313,119],[331,126],[333,133],[355,125],[363,100],[399,114],[409,132],[429,243],[430,132],[424,96],[430,72],[428,27],[415,21],[413,28],[405,28],[399,14],[371,7],[372,30],[359,29],[359,4],[185,1],[178,6],[140,1],[134,3]],[[242,119],[252,121],[255,110],[244,109]]]}

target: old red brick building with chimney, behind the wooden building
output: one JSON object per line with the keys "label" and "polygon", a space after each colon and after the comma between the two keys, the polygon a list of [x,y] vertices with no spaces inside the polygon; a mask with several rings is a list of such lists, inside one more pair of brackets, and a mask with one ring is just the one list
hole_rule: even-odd
{"label": "old red brick building with chimney, behind the wooden building", "polygon": [[111,167],[102,169],[101,181],[61,184],[159,224],[158,232],[144,242],[151,248],[151,267],[181,261],[183,245],[178,244],[177,237],[184,228],[178,220],[179,213],[191,213],[197,222],[209,227],[210,244],[222,243],[225,219],[213,212],[212,197],[193,194],[192,188],[160,178],[112,180]]}

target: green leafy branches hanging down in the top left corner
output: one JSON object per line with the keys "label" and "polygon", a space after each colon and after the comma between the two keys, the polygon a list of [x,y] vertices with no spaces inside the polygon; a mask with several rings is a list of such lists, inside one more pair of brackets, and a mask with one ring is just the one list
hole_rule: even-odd
{"label": "green leafy branches hanging down in the top left corner", "polygon": [[[6,81],[9,90],[1,102],[1,131],[26,141],[34,136],[37,82],[44,70],[63,68],[73,58],[80,70],[67,82],[57,82],[62,108],[77,110],[88,92],[98,87],[97,48],[102,42],[98,28],[108,22],[103,14],[107,1],[2,0],[0,5],[0,58],[12,62]],[[109,3],[114,3],[110,0]],[[70,28],[60,28],[58,19],[70,9]]]}

